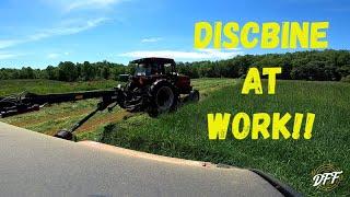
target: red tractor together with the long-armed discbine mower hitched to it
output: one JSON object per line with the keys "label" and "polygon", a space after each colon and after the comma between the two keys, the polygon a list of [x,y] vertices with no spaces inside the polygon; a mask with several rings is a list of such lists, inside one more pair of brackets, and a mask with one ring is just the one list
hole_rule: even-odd
{"label": "red tractor together with the long-armed discbine mower hitched to it", "polygon": [[189,77],[177,73],[173,59],[142,58],[130,63],[135,65],[135,74],[120,74],[120,79],[128,79],[126,85],[118,84],[113,90],[102,91],[46,95],[21,93],[4,96],[0,97],[0,116],[8,117],[39,111],[46,104],[101,97],[95,111],[78,121],[71,129],[60,130],[55,135],[58,138],[72,140],[74,130],[97,112],[106,108],[112,111],[118,105],[129,112],[147,112],[151,117],[156,117],[161,113],[176,109],[183,100],[199,100],[199,92],[192,90]]}

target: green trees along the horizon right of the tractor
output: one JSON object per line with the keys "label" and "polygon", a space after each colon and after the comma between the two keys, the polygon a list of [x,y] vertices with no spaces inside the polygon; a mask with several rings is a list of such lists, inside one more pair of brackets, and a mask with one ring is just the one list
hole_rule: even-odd
{"label": "green trees along the horizon right of the tractor", "polygon": [[180,73],[191,78],[244,78],[249,67],[281,67],[279,79],[339,81],[350,74],[348,50],[299,51],[245,55],[221,61],[178,63]]}

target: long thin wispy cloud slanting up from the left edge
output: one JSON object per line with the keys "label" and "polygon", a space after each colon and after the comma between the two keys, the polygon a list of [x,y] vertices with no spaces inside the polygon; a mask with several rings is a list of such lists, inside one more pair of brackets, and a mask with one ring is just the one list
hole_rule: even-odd
{"label": "long thin wispy cloud slanting up from the left edge", "polygon": [[69,23],[69,25],[66,24],[55,28],[42,30],[36,34],[32,34],[20,39],[0,39],[0,49],[16,46],[23,43],[36,42],[52,36],[78,34],[80,32],[96,27],[106,21],[108,21],[107,18],[98,18],[84,22],[75,21],[74,23]]}

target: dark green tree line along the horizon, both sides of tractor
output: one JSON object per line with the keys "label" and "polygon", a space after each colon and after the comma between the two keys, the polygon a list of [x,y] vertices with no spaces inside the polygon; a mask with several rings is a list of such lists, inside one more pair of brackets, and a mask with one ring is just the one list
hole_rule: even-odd
{"label": "dark green tree line along the horizon, both sides of tractor", "polygon": [[[279,79],[350,81],[349,50],[312,50],[287,54],[244,55],[226,60],[177,62],[179,73],[190,78],[244,78],[249,67],[281,67]],[[0,80],[49,79],[59,81],[90,81],[98,79],[118,80],[121,73],[132,73],[131,65],[108,61],[91,63],[60,62],[46,69],[0,69]]]}

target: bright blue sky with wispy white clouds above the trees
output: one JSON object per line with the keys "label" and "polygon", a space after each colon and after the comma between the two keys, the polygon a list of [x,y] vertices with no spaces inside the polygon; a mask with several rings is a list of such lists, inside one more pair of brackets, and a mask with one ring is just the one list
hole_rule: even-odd
{"label": "bright blue sky with wispy white clouds above the trees", "polygon": [[329,21],[329,48],[349,49],[347,0],[1,0],[0,68],[45,68],[59,61],[127,63],[140,56],[180,61],[285,49],[194,49],[199,21]]}

